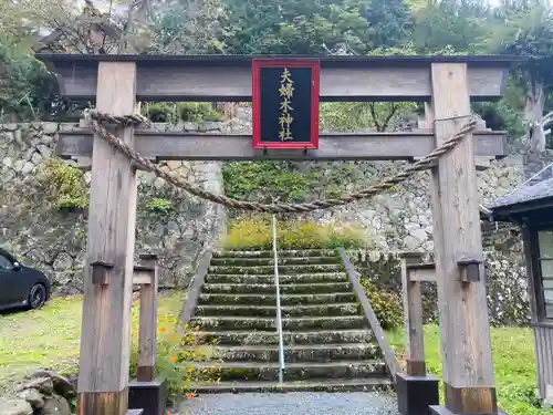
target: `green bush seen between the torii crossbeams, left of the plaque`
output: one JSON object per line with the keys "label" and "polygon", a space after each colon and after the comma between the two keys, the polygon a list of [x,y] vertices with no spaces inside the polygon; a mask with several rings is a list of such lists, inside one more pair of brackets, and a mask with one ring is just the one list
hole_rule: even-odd
{"label": "green bush seen between the torii crossbeams, left of the plaque", "polygon": [[145,106],[145,113],[154,123],[176,124],[179,121],[202,123],[222,118],[221,114],[207,102],[153,103]]}

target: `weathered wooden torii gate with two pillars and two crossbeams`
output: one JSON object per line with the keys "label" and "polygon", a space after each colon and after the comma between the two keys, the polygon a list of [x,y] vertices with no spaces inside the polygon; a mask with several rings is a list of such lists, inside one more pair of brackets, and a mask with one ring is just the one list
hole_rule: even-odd
{"label": "weathered wooden torii gate with two pillars and two crossbeams", "polygon": [[[96,100],[96,110],[112,115],[132,114],[137,100],[252,98],[252,56],[36,58],[58,74],[64,96]],[[425,102],[429,128],[411,133],[326,134],[319,137],[319,148],[301,151],[255,149],[250,135],[166,133],[133,125],[119,126],[114,134],[152,160],[413,160],[459,131],[470,115],[470,101],[501,96],[513,59],[330,56],[320,58],[319,62],[321,101]],[[446,395],[446,405],[432,408],[437,414],[498,413],[474,155],[504,156],[504,138],[503,132],[477,129],[441,157],[430,174]],[[59,153],[92,159],[87,261],[111,264],[102,281],[93,281],[90,270],[85,278],[77,414],[124,415],[128,394],[136,166],[85,125],[60,133]]]}

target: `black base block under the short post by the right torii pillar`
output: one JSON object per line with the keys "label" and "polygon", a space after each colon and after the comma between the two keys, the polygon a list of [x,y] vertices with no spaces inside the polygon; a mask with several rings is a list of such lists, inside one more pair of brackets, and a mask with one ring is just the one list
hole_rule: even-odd
{"label": "black base block under the short post by the right torii pillar", "polygon": [[430,415],[430,405],[438,405],[439,381],[431,376],[396,374],[397,406],[401,415]]}

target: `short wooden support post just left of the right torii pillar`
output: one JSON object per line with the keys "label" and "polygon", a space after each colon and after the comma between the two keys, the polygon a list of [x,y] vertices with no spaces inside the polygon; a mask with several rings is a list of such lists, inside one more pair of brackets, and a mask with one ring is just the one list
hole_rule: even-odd
{"label": "short wooden support post just left of the right torii pillar", "polygon": [[422,255],[405,252],[401,256],[401,288],[404,298],[405,347],[407,350],[407,374],[425,376],[425,340],[422,334],[422,295],[420,281],[411,281],[408,266],[420,263]]}

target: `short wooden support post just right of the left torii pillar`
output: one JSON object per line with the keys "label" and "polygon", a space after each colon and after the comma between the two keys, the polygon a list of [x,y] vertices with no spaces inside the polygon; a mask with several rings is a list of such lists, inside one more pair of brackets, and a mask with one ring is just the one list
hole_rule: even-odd
{"label": "short wooden support post just right of the left torii pillar", "polygon": [[[140,284],[140,325],[138,329],[138,382],[156,378],[157,343],[157,256],[140,256],[142,267],[135,267]],[[138,269],[137,269],[138,268]],[[138,272],[137,272],[138,271]]]}

